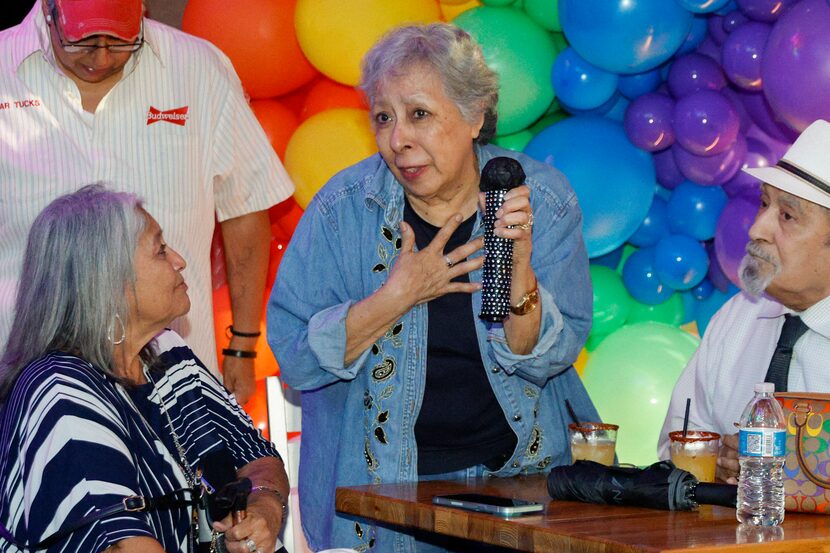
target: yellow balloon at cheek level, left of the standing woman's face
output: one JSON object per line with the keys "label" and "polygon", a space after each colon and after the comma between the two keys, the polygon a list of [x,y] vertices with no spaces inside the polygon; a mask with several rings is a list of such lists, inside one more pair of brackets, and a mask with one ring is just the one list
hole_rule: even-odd
{"label": "yellow balloon at cheek level, left of the standing woman's face", "polygon": [[285,149],[285,169],[297,190],[294,199],[303,209],[338,171],[377,152],[369,112],[338,108],[303,121]]}

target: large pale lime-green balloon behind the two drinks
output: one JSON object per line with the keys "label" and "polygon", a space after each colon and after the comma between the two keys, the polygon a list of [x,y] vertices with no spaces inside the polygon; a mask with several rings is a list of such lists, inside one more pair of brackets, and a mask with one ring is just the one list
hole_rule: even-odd
{"label": "large pale lime-green balloon behind the two drinks", "polygon": [[648,465],[671,392],[700,340],[663,323],[626,325],[591,353],[582,381],[604,422],[618,424],[617,458]]}

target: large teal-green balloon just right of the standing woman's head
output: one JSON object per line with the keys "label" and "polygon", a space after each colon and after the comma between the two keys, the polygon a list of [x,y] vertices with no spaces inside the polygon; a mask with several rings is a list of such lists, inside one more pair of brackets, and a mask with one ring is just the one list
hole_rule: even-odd
{"label": "large teal-green balloon just right of the standing woman's head", "polygon": [[556,46],[547,31],[515,8],[480,6],[453,23],[481,45],[499,75],[498,134],[513,134],[541,117],[553,101],[550,72]]}

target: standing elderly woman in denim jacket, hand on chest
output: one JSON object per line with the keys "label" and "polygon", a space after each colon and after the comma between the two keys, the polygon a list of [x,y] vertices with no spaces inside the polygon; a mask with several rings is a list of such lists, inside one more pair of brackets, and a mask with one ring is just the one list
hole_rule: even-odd
{"label": "standing elderly woman in denim jacket, hand on chest", "polygon": [[[301,511],[313,548],[431,550],[334,512],[341,485],[513,476],[570,462],[565,400],[591,324],[582,215],[565,177],[489,146],[498,84],[449,24],[396,29],[363,62],[379,154],[308,206],[268,305],[284,381],[303,391]],[[526,173],[496,213],[513,241],[511,313],[481,310],[480,175]],[[436,547],[440,549],[440,547]]]}

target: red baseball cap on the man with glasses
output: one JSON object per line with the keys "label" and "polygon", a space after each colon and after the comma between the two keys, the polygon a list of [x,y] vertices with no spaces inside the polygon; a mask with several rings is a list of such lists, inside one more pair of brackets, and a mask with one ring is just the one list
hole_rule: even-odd
{"label": "red baseball cap on the man with glasses", "polygon": [[92,35],[132,41],[141,33],[142,0],[56,0],[61,32],[69,42]]}

